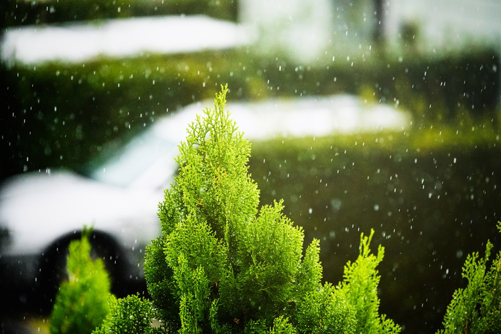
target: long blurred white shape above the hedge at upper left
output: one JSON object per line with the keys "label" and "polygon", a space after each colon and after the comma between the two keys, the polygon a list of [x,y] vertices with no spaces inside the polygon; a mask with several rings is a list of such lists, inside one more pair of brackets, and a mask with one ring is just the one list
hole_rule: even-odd
{"label": "long blurred white shape above the hedge at upper left", "polygon": [[202,15],[15,27],[7,29],[4,35],[2,60],[26,64],[83,62],[97,56],[226,49],[250,43],[251,35],[241,25]]}

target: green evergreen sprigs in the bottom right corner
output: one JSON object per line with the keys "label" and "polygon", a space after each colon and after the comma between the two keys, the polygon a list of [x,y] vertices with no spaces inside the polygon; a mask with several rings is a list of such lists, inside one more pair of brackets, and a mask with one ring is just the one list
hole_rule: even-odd
{"label": "green evergreen sprigs in the bottom right corner", "polygon": [[[497,222],[501,232],[501,222]],[[462,276],[468,280],[465,288],[454,291],[447,306],[443,329],[437,334],[448,333],[501,333],[501,251],[488,269],[492,243],[487,240],[485,254],[468,254]]]}

